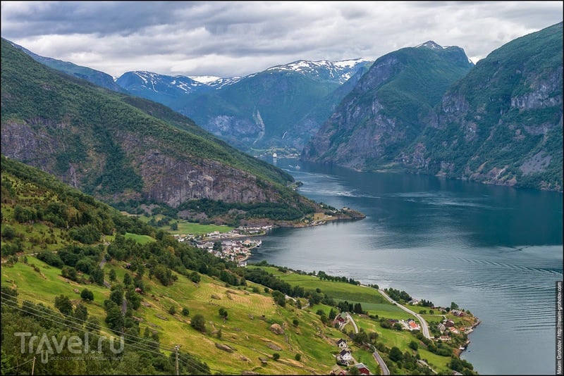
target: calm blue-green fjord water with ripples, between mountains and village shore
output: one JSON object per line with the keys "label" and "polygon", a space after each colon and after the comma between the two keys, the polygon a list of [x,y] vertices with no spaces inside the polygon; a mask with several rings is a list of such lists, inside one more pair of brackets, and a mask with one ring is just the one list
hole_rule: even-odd
{"label": "calm blue-green fjord water with ripples, between mountains and village shore", "polygon": [[[563,195],[279,158],[300,193],[367,218],[275,229],[250,262],[352,277],[482,320],[462,358],[482,375],[553,375]],[[295,168],[299,165],[300,168]]]}

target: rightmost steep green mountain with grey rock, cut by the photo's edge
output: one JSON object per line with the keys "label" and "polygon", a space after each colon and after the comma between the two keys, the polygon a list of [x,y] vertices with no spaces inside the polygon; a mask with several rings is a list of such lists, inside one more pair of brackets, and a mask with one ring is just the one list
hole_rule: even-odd
{"label": "rightmost steep green mountain with grey rock, cut by the photo's edge", "polygon": [[501,46],[448,90],[406,163],[491,184],[563,189],[563,24]]}

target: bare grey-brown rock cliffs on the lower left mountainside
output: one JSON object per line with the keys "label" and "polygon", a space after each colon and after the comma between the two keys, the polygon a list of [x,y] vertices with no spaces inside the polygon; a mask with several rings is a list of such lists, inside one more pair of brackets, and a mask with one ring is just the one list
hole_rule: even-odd
{"label": "bare grey-brown rock cliffs on the lower left mountainside", "polygon": [[[68,168],[59,170],[56,156],[70,145],[64,137],[56,137],[44,130],[44,126],[65,128],[67,125],[39,119],[34,123],[8,122],[2,126],[1,144],[5,156],[42,168],[78,189],[92,186],[92,177],[104,174],[108,156],[86,145],[88,157],[85,161],[70,163]],[[174,208],[190,199],[240,203],[279,199],[274,187],[251,173],[218,161],[174,156],[156,139],[130,132],[120,132],[116,136],[143,184],[140,192],[125,190],[104,197],[106,200],[137,198],[166,203]]]}

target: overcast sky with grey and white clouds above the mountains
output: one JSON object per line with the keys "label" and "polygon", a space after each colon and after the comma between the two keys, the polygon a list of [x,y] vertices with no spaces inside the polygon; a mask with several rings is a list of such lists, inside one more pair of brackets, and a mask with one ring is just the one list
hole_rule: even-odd
{"label": "overcast sky with grey and white clouds above the mountains", "polygon": [[562,20],[563,1],[1,1],[3,38],[114,77],[243,76],[428,40],[475,63]]}

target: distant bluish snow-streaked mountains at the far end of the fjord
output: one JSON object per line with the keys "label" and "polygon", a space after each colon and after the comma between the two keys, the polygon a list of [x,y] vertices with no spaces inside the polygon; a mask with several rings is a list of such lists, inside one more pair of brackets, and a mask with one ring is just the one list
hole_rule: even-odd
{"label": "distant bluish snow-streaked mountains at the far end of the fjord", "polygon": [[[369,63],[362,59],[335,63],[295,61],[203,86],[188,77],[180,80],[140,72],[126,73],[117,83],[132,94],[187,115],[239,149],[301,149],[346,94],[341,87],[350,88],[344,82]],[[133,75],[142,78],[131,80]],[[186,84],[188,80],[192,83]]]}

